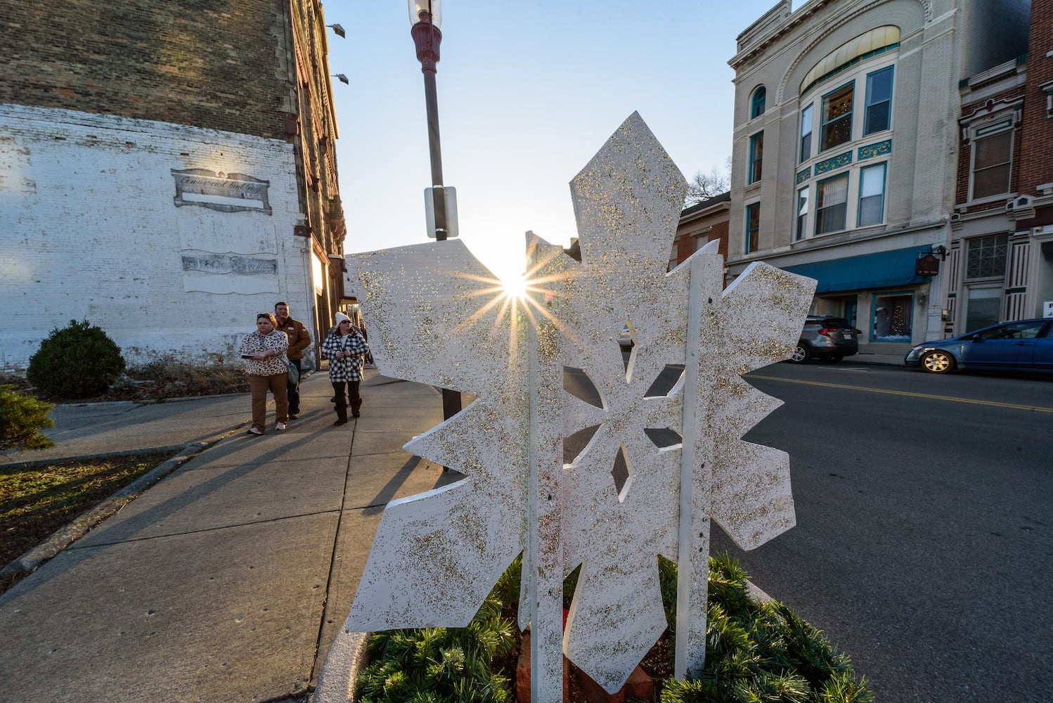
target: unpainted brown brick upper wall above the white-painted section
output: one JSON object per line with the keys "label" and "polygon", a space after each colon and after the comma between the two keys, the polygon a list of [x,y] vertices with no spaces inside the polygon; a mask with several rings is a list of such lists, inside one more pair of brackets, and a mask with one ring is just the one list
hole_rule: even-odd
{"label": "unpainted brown brick upper wall above the white-painted section", "polygon": [[5,2],[0,102],[283,139],[284,4]]}

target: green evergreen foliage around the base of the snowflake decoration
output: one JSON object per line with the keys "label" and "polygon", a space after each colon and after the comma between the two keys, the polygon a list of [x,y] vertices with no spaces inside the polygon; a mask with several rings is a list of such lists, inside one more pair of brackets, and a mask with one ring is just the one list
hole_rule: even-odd
{"label": "green evergreen foliage around the base of the snowflake decoration", "polygon": [[[362,702],[510,700],[508,677],[500,671],[512,669],[499,660],[514,646],[520,568],[517,558],[464,629],[374,634],[373,663],[358,678]],[[675,630],[676,564],[659,558],[658,573],[665,617]],[[564,595],[573,591],[576,578],[577,570],[564,580]],[[748,578],[730,556],[710,558],[706,669],[688,680],[649,671],[659,677],[661,703],[872,703],[866,679],[856,676],[848,656],[782,603],[752,600]],[[670,657],[674,648],[668,642]]]}

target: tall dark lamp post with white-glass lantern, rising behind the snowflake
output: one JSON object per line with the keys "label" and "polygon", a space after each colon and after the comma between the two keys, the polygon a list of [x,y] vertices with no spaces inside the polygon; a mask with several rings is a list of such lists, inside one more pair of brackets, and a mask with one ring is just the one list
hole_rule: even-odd
{"label": "tall dark lamp post with white-glass lantern, rising behind the snowflake", "polygon": [[[410,35],[417,49],[420,72],[424,74],[424,105],[428,111],[428,147],[432,161],[432,198],[435,207],[435,240],[446,239],[446,201],[442,193],[442,147],[439,143],[439,104],[435,92],[435,64],[439,62],[442,42],[442,3],[440,0],[409,0]],[[461,410],[460,393],[442,389],[442,418],[449,420]],[[443,467],[445,470],[445,467]]]}

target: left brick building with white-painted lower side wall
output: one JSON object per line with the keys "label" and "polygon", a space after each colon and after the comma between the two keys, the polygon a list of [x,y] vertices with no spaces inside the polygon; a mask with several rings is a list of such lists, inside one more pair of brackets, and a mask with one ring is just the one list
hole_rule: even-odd
{"label": "left brick building with white-painted lower side wall", "polygon": [[0,367],[87,319],[130,361],[341,305],[317,0],[0,1]]}

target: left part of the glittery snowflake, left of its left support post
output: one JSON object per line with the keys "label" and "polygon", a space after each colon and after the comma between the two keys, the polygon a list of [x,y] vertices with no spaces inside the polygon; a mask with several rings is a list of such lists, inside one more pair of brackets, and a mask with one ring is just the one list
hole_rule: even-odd
{"label": "left part of the glittery snowflake, left of its left support post", "polygon": [[468,478],[389,504],[346,626],[461,627],[521,549],[525,387],[510,308],[494,295],[496,278],[457,241],[351,261],[384,373],[478,398],[405,445]]}

